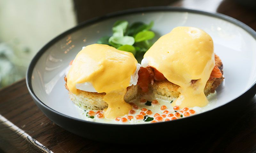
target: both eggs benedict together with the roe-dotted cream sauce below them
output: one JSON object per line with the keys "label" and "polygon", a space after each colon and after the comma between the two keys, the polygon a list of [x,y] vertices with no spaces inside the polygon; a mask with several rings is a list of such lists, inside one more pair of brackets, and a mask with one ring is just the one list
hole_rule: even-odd
{"label": "both eggs benedict together with the roe-dotted cream sauce below them", "polygon": [[106,44],[83,47],[69,63],[65,87],[84,119],[143,124],[209,110],[223,81],[223,64],[209,34],[175,27],[138,63],[131,52]]}

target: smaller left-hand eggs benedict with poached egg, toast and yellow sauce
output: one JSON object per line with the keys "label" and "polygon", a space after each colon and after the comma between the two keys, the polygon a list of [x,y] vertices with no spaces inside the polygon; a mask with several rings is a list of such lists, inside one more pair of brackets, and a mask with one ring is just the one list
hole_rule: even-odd
{"label": "smaller left-hand eggs benedict with poached egg, toast and yellow sauce", "polygon": [[126,102],[137,95],[134,85],[139,68],[132,53],[92,44],[76,55],[68,71],[66,88],[76,104],[104,109],[105,118],[113,119],[132,109]]}

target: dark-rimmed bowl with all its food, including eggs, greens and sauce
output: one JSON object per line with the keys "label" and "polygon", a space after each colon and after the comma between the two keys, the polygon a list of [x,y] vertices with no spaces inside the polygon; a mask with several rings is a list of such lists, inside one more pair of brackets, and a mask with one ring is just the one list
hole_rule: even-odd
{"label": "dark-rimmed bowl with all its food, including eggs, greens and sauce", "polygon": [[249,102],[255,50],[256,32],[231,17],[140,8],[60,34],[35,55],[26,83],[40,110],[71,133],[169,142],[214,130]]}

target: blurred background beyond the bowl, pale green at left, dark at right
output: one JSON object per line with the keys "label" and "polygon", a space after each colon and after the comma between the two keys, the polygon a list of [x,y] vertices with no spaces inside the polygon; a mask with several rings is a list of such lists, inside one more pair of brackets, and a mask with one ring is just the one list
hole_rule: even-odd
{"label": "blurred background beyond the bowl, pale green at left, dark at right", "polygon": [[0,0],[0,88],[23,79],[33,56],[60,33],[90,18],[148,6],[219,12],[256,27],[256,0]]}

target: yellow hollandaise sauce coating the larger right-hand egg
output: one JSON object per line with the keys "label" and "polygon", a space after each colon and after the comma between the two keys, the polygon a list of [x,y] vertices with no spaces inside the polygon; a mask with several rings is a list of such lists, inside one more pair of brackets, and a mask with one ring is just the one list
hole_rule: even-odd
{"label": "yellow hollandaise sauce coating the larger right-hand egg", "polygon": [[[203,107],[208,104],[204,87],[215,65],[210,35],[194,27],[176,27],[160,37],[144,55],[150,66],[180,86],[172,106]],[[191,80],[197,80],[191,84]]]}

